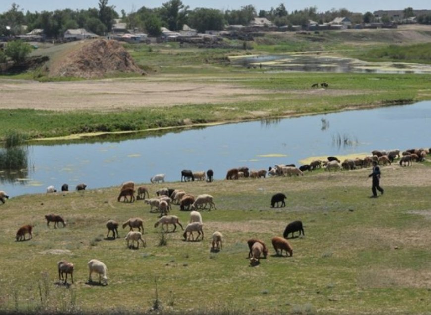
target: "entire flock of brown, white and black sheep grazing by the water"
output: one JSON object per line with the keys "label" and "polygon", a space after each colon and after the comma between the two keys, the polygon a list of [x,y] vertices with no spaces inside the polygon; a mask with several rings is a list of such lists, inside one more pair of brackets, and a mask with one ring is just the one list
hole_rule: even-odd
{"label": "entire flock of brown, white and black sheep grazing by the water", "polygon": [[[399,164],[401,166],[411,165],[412,161],[423,161],[425,157],[430,153],[429,149],[409,149],[400,154],[399,150],[392,150],[389,152],[385,151],[372,151],[372,155],[365,158],[356,158],[356,159],[346,159],[341,162],[336,157],[328,157],[327,160],[315,160],[307,165],[302,165],[297,168],[295,165],[275,165],[273,168],[269,167],[269,170],[249,170],[247,167],[233,168],[229,169],[226,174],[226,180],[236,180],[242,177],[250,177],[250,178],[260,178],[268,175],[269,176],[300,176],[304,175],[304,171],[313,171],[318,168],[324,168],[327,171],[331,170],[353,170],[358,167],[368,167],[371,165],[373,161],[377,161],[381,165],[391,164],[394,162],[395,158],[399,159]],[[181,182],[184,181],[194,181],[194,180],[204,180],[211,182],[213,180],[214,173],[212,170],[208,170],[207,172],[192,172],[189,170],[183,170],[181,172]],[[158,174],[151,178],[151,183],[159,183],[164,182],[165,175]],[[87,187],[86,184],[79,184],[76,186],[76,190],[85,190]],[[62,186],[62,191],[67,191],[68,185],[64,184]],[[56,192],[54,186],[47,187],[47,193]],[[135,192],[137,192],[136,199],[143,200],[146,204],[150,206],[150,212],[158,212],[160,213],[160,217],[154,224],[154,227],[157,228],[159,225],[161,226],[162,232],[169,232],[169,225],[173,226],[173,229],[170,232],[175,232],[177,229],[177,225],[180,226],[181,230],[183,230],[183,238],[185,241],[192,240],[197,241],[199,238],[201,240],[204,239],[204,231],[203,231],[203,220],[202,215],[199,210],[207,209],[210,211],[212,208],[216,209],[216,205],[213,200],[213,196],[209,194],[201,194],[197,197],[194,197],[191,194],[186,193],[184,190],[180,189],[168,189],[162,188],[156,191],[156,197],[150,198],[148,189],[146,186],[139,186],[135,189],[134,182],[125,182],[122,184],[120,193],[118,196],[118,201],[121,201],[123,198],[124,202],[134,202],[135,201]],[[9,196],[4,192],[0,191],[0,200],[4,204],[6,199]],[[271,198],[270,205],[271,207],[284,207],[286,195],[283,193],[274,194]],[[172,205],[178,205],[179,210],[191,210],[190,212],[190,221],[183,228],[178,216],[170,214],[170,210],[172,209]],[[67,223],[65,220],[56,214],[47,214],[45,215],[45,219],[47,221],[47,226],[49,226],[50,222],[54,222],[54,228],[59,227],[61,223],[63,227],[66,227]],[[106,223],[106,227],[108,229],[107,238],[109,237],[109,233],[112,232],[113,239],[119,237],[118,234],[118,222],[115,220],[109,220]],[[125,227],[129,227],[129,232],[125,237],[125,241],[127,242],[127,247],[139,248],[139,243],[142,243],[143,247],[146,247],[146,241],[143,238],[144,234],[144,220],[135,217],[130,218],[122,224],[123,229]],[[16,241],[26,240],[26,235],[29,235],[29,239],[33,237],[32,235],[32,225],[23,225],[16,232]],[[135,231],[134,229],[138,229]],[[195,238],[193,233],[197,233]],[[282,256],[283,251],[285,251],[286,256],[293,255],[293,249],[290,243],[287,241],[289,234],[291,237],[294,237],[294,233],[299,232],[299,235],[304,234],[303,224],[301,221],[294,221],[289,223],[283,233],[283,237],[273,237],[271,239],[272,246],[276,252],[276,255]],[[212,234],[211,237],[211,251],[218,252],[222,250],[222,239],[223,235],[221,232],[216,231]],[[251,265],[256,265],[259,263],[261,257],[266,257],[268,254],[268,248],[262,240],[259,239],[249,239],[247,241],[249,246],[249,259]],[[64,281],[67,283],[67,275],[70,274],[71,281],[73,283],[73,270],[74,264],[71,262],[67,262],[65,260],[61,260],[57,263],[58,266],[58,278],[60,281]],[[99,274],[99,283],[103,281],[104,284],[107,284],[107,267],[103,262],[100,262],[96,259],[92,259],[88,262],[89,269],[89,281],[91,282],[92,273],[96,272]],[[64,277],[65,275],[65,277]]]}

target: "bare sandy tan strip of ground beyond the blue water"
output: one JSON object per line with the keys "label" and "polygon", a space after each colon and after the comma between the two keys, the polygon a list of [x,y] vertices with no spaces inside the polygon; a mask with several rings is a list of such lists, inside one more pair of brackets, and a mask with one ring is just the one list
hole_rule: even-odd
{"label": "bare sandy tan strip of ground beyond the blue water", "polygon": [[255,99],[268,91],[228,84],[96,80],[47,82],[0,80],[0,108],[123,110]]}

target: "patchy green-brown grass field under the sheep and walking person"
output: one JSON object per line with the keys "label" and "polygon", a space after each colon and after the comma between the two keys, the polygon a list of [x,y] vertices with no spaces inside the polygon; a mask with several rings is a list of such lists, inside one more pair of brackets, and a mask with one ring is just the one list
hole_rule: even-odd
{"label": "patchy green-brown grass field under the sheep and walking person", "polygon": [[[177,230],[165,246],[153,227],[157,214],[142,201],[117,202],[119,187],[11,198],[0,208],[0,312],[132,314],[157,305],[162,314],[428,314],[430,163],[383,167],[385,194],[377,199],[368,198],[369,173],[148,184],[150,196],[167,186],[210,193],[216,203],[202,212],[203,241],[185,242]],[[270,208],[276,192],[288,196],[285,208]],[[67,226],[47,227],[48,213]],[[188,221],[178,206],[171,214]],[[146,248],[127,249],[127,229],[106,239],[108,219],[136,216]],[[293,257],[277,257],[270,239],[293,220],[303,221],[305,237],[289,239]],[[33,239],[15,242],[22,224],[34,225]],[[216,230],[223,250],[211,253]],[[247,259],[251,237],[269,246],[255,267]],[[108,286],[86,283],[93,258],[106,263]],[[71,286],[58,284],[60,259],[75,264]]]}

